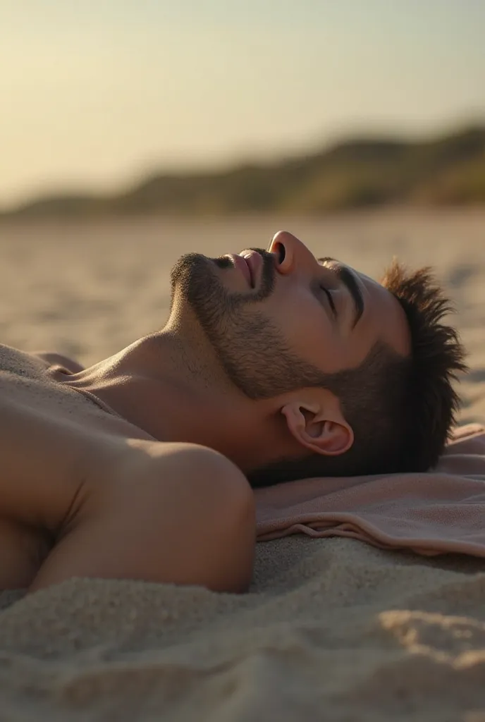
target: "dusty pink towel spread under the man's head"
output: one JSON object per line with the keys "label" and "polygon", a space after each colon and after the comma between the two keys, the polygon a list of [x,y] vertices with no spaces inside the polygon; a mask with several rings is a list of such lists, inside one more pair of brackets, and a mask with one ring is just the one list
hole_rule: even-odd
{"label": "dusty pink towel spread under the man's head", "polygon": [[382,549],[485,557],[485,428],[458,428],[427,473],[301,479],[255,497],[258,541],[349,536]]}

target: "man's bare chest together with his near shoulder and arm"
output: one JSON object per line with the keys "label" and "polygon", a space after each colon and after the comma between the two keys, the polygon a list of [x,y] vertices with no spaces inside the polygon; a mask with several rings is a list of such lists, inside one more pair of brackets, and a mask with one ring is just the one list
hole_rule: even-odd
{"label": "man's bare chest together with his near shoulder and arm", "polygon": [[241,471],[62,383],[78,370],[0,345],[0,590],[73,577],[248,588],[255,508]]}

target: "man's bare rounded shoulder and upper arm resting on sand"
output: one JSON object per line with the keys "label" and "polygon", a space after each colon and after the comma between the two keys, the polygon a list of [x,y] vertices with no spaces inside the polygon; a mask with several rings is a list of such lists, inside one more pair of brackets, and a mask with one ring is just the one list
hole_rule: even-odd
{"label": "man's bare rounded shoulder and upper arm resting on sand", "polygon": [[254,495],[229,459],[194,444],[160,443],[110,466],[84,488],[30,591],[73,577],[248,588]]}

